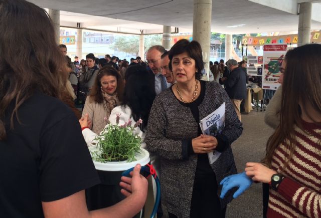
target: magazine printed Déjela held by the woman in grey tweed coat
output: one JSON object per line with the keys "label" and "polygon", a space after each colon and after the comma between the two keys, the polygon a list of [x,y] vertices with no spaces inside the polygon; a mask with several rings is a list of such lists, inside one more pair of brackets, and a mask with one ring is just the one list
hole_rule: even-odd
{"label": "magazine printed D\u00e9jela held by the woman in grey tweed coat", "polygon": [[[225,127],[225,102],[210,115],[201,120],[200,126],[204,135],[217,136],[221,134]],[[214,163],[221,152],[216,150],[209,152],[209,161],[210,164]]]}

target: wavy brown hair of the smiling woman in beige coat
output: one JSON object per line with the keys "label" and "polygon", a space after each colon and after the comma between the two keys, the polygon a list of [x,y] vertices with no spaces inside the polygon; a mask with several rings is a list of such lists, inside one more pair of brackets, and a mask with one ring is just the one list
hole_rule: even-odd
{"label": "wavy brown hair of the smiling woman in beige coat", "polygon": [[102,103],[103,101],[103,96],[101,92],[101,84],[100,80],[103,76],[114,76],[116,77],[117,80],[117,87],[116,87],[116,93],[117,93],[117,98],[121,102],[123,99],[123,94],[124,94],[124,81],[121,78],[120,74],[116,71],[115,68],[110,67],[110,66],[105,66],[101,68],[98,71],[97,77],[95,79],[95,83],[92,87],[92,90],[90,91],[90,100],[95,101],[97,103]]}

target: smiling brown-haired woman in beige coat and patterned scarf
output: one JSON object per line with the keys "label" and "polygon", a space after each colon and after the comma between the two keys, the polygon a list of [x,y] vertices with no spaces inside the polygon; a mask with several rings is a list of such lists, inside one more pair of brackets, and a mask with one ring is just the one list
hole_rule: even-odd
{"label": "smiling brown-haired woman in beige coat and patterned scarf", "polygon": [[82,116],[88,114],[92,131],[99,134],[108,122],[111,110],[122,101],[124,82],[119,73],[106,66],[98,71],[95,84],[86,98]]}

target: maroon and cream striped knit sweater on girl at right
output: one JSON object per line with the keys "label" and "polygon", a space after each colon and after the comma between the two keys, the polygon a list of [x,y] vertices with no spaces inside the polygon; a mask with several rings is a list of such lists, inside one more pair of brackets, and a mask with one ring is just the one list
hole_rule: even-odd
{"label": "maroon and cream striped knit sweater on girl at right", "polygon": [[272,169],[285,176],[277,191],[269,190],[267,217],[321,217],[321,128],[295,125],[296,147],[286,169],[286,141],[275,150]]}

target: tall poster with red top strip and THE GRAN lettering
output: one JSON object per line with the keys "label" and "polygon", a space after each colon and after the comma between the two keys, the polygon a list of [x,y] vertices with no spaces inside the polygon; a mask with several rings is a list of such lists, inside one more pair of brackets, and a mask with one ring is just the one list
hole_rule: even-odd
{"label": "tall poster with red top strip and THE GRAN lettering", "polygon": [[280,67],[286,54],[286,44],[263,46],[263,75],[262,88],[276,90],[281,75]]}

